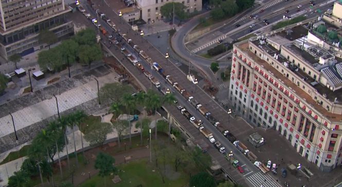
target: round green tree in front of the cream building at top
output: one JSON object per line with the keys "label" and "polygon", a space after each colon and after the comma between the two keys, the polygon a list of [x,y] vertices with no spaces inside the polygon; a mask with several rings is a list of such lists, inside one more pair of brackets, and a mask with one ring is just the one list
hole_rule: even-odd
{"label": "round green tree in front of the cream building at top", "polygon": [[165,5],[160,7],[160,12],[163,14],[164,17],[167,17],[168,19],[173,18],[173,5],[174,5],[174,14],[177,16],[179,19],[185,19],[186,14],[185,14],[185,5],[182,3],[166,3]]}

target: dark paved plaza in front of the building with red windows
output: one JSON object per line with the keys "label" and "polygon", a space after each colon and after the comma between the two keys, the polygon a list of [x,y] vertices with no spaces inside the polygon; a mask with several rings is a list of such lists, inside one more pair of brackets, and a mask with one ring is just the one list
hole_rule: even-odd
{"label": "dark paved plaza in front of the building with red windows", "polygon": [[[255,132],[258,132],[266,140],[266,143],[259,148],[254,148],[252,144],[247,141],[247,137]],[[301,157],[299,153],[296,152],[295,148],[291,146],[290,141],[282,137],[276,130],[264,130],[262,128],[250,129],[237,135],[237,138],[242,141],[250,151],[257,155],[259,161],[266,163],[267,160],[271,160],[273,163],[279,164],[277,169],[278,174],[274,174],[274,178],[279,180],[280,184],[284,184],[286,181],[290,186],[305,185],[330,187],[337,184],[342,179],[341,168],[336,168],[331,173],[320,172],[315,163],[309,163],[307,159]],[[287,165],[297,165],[298,163],[301,163],[303,167],[309,169],[314,175],[308,179],[301,172],[299,172],[297,176],[291,174],[287,169]],[[286,178],[281,177],[282,168],[286,168],[287,170]],[[269,173],[271,173],[271,171]],[[271,175],[273,174],[271,173]]]}

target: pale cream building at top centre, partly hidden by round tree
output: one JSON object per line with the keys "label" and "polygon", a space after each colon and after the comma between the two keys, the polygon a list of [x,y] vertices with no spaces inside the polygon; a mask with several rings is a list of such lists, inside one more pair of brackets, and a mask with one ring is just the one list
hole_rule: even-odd
{"label": "pale cream building at top centre, partly hidden by round tree", "polygon": [[160,13],[160,7],[172,2],[184,4],[187,13],[202,10],[202,0],[137,0],[136,4],[140,9],[141,19],[152,23],[164,18]]}

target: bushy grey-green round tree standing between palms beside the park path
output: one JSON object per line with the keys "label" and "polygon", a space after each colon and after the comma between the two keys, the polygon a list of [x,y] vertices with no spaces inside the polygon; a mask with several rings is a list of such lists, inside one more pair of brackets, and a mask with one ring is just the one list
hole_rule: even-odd
{"label": "bushy grey-green round tree standing between palms beside the park path", "polygon": [[107,134],[111,132],[113,132],[112,124],[98,122],[89,128],[87,133],[84,135],[84,138],[89,141],[91,146],[96,144],[103,146],[103,142],[107,139]]}

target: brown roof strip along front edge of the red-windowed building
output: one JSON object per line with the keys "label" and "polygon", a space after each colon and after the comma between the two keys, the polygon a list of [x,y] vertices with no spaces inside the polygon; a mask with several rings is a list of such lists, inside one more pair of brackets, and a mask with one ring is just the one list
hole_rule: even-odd
{"label": "brown roof strip along front edge of the red-windowed building", "polygon": [[[273,73],[273,76],[276,79],[278,79],[278,81],[281,81],[284,85],[286,85],[288,87],[286,89],[292,90],[293,92],[295,92],[301,99],[304,99],[305,101],[307,101],[312,108],[316,109],[323,116],[326,116],[327,118],[329,118],[332,121],[340,121],[342,119],[342,115],[328,112],[327,109],[325,109],[321,105],[319,105],[309,94],[307,94],[305,91],[303,91],[301,88],[299,88],[289,78],[285,77],[281,72],[277,71],[274,67],[269,65],[267,63],[267,61],[259,58],[253,52],[249,51],[248,41],[245,41],[244,43],[240,43],[240,44],[235,44],[235,45],[241,51],[246,53],[250,58],[252,58],[255,61],[255,63],[257,63],[259,66],[262,66],[268,72]],[[268,47],[269,47],[269,45],[268,45]],[[298,71],[297,73],[306,75],[302,71]],[[317,86],[317,88],[318,88],[318,86]],[[324,89],[325,89],[325,91],[329,90],[326,87],[324,87]],[[342,91],[339,91],[339,92],[341,92],[339,94],[342,95]],[[335,92],[333,92],[333,93],[335,94]]]}

